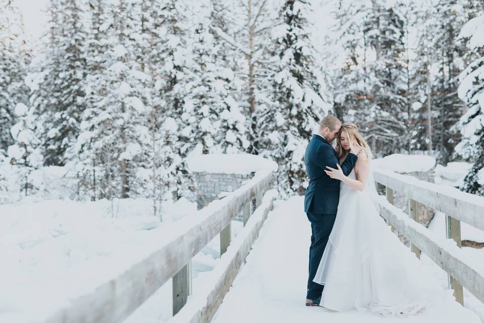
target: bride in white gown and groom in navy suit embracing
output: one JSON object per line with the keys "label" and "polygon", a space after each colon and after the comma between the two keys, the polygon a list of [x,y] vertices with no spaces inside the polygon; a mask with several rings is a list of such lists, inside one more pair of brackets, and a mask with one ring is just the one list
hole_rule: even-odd
{"label": "bride in white gown and groom in navy suit embracing", "polygon": [[312,229],[306,305],[417,314],[429,305],[435,286],[419,275],[418,259],[373,204],[371,159],[357,127],[333,116],[321,121],[306,148],[304,209]]}

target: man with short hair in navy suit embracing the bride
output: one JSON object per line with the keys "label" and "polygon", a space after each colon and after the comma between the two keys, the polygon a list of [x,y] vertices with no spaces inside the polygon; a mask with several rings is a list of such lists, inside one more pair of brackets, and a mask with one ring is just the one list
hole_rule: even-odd
{"label": "man with short hair in navy suit embracing the bride", "polygon": [[[340,181],[330,178],[324,171],[326,166],[336,169],[339,157],[331,146],[337,137],[341,121],[333,116],[321,120],[318,133],[306,147],[304,156],[309,186],[304,197],[304,211],[311,222],[311,247],[309,248],[309,278],[306,306],[318,306],[321,302],[323,285],[313,282],[329,234],[333,229],[339,202]],[[356,153],[351,150],[341,168],[345,176],[351,173],[356,163]]]}

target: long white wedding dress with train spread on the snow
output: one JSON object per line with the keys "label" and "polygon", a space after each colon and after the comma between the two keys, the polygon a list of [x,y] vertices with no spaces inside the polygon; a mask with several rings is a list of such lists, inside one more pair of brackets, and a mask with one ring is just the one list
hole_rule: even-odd
{"label": "long white wedding dress with train spread on the snow", "polygon": [[[355,178],[354,170],[349,177]],[[370,192],[341,183],[334,227],[313,280],[325,285],[320,304],[336,311],[419,313],[442,289],[422,276],[419,260],[380,217]]]}

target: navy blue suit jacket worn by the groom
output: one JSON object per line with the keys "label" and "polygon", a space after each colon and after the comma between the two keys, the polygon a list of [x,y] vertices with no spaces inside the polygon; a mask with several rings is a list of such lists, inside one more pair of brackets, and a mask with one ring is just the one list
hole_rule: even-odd
{"label": "navy blue suit jacket worn by the groom", "polygon": [[[345,176],[351,173],[356,163],[356,155],[350,153],[340,165]],[[304,196],[304,211],[316,214],[336,214],[339,203],[340,180],[329,177],[326,166],[337,168],[339,164],[336,150],[322,136],[313,135],[304,155],[309,186]]]}

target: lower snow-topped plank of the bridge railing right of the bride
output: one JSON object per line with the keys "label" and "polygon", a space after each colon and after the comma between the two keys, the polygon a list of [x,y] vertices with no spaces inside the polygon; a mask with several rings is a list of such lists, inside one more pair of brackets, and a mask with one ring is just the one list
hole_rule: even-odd
{"label": "lower snow-topped plank of the bridge railing right of the bride", "polygon": [[[405,214],[385,199],[379,199],[380,214],[395,229],[403,233],[415,246],[438,264],[445,272],[455,278],[472,295],[484,302],[484,277],[474,266],[463,262],[465,259],[460,248],[449,246],[439,240],[421,224],[405,221]],[[478,267],[478,265],[476,265]]]}

